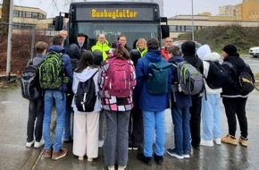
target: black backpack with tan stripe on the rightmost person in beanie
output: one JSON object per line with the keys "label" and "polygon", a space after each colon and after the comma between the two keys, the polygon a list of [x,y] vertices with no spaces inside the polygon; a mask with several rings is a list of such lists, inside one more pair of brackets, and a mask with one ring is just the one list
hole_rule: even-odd
{"label": "black backpack with tan stripe on the rightmost person in beanie", "polygon": [[[228,64],[233,67],[233,64],[230,62],[225,62],[224,64]],[[238,74],[238,83],[240,86],[240,91],[244,94],[249,94],[255,89],[255,77],[254,73],[251,71],[251,68],[248,64],[241,69]]]}

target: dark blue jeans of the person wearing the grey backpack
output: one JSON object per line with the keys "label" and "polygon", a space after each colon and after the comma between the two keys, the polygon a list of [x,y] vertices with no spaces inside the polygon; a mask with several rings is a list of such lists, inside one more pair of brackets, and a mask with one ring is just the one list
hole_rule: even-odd
{"label": "dark blue jeans of the person wearing the grey backpack", "polygon": [[187,155],[190,152],[190,129],[188,109],[188,107],[173,107],[171,109],[171,118],[172,123],[174,124],[174,147],[178,155]]}

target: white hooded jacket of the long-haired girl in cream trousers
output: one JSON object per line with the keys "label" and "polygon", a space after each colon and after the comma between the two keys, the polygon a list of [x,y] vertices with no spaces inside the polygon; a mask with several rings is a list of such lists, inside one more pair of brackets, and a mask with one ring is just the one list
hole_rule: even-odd
{"label": "white hooded jacket of the long-haired girl in cream trousers", "polygon": [[99,86],[98,86],[98,69],[97,68],[90,68],[87,67],[86,69],[83,70],[83,72],[74,72],[74,76],[73,76],[73,84],[72,84],[72,91],[74,94],[77,93],[78,90],[78,86],[79,86],[79,81],[84,82],[84,81],[88,81],[88,79],[90,79],[94,73],[96,73],[96,75],[94,76],[94,81],[95,81],[95,86],[96,86],[96,104],[95,104],[95,110],[93,112],[79,112],[77,106],[74,103],[74,99],[72,100],[72,107],[73,110],[75,111],[76,114],[90,114],[90,113],[96,113],[99,112],[101,110],[101,100],[100,98],[98,98],[98,94],[99,94]]}

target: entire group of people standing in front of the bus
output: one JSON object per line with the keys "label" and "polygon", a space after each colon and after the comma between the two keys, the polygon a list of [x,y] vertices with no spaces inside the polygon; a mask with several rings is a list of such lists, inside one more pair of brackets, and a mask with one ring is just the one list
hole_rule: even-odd
{"label": "entire group of people standing in front of the bus", "polygon": [[[200,47],[196,52],[196,44],[193,41],[182,44],[182,55],[180,55],[180,48],[171,45],[172,38],[165,38],[165,47],[162,49],[155,38],[147,41],[145,38],[139,38],[136,42],[139,57],[136,58],[132,57],[132,51],[129,51],[126,45],[127,39],[123,35],[118,38],[118,41],[113,42],[112,47],[108,46],[104,34],[98,36],[96,46],[91,48],[85,44],[85,38],[86,35],[80,33],[78,43],[70,45],[66,50],[65,37],[62,35],[54,36],[53,45],[50,47],[42,41],[36,44],[37,55],[33,58],[35,65],[44,60],[46,50],[63,53],[62,73],[70,79],[71,92],[69,92],[69,85],[63,83],[58,89],[45,89],[43,98],[37,101],[29,100],[27,147],[34,144],[35,148],[39,148],[45,144],[45,157],[57,160],[67,154],[67,149],[62,148],[62,140],[67,141],[72,138],[73,154],[78,156],[79,160],[87,156],[88,161],[93,161],[98,157],[98,144],[104,140],[104,165],[108,169],[113,170],[116,165],[118,169],[125,169],[128,163],[128,149],[143,149],[138,151],[137,157],[146,165],[152,165],[152,157],[155,163],[162,165],[166,138],[164,114],[170,107],[174,124],[174,148],[167,149],[166,152],[172,157],[189,158],[191,145],[194,149],[199,149],[200,145],[212,147],[213,140],[216,144],[221,144],[222,141],[237,145],[236,114],[241,131],[239,142],[242,146],[247,146],[246,99],[248,94],[242,94],[238,90],[238,72],[246,64],[239,57],[237,47],[228,45],[223,48],[222,65],[228,72],[229,80],[222,90],[210,89],[205,83],[206,95],[203,95],[203,91],[196,95],[186,95],[181,91],[172,94],[171,84],[178,79],[176,68],[172,66],[167,75],[167,92],[154,95],[146,88],[150,63],[176,64],[187,61],[206,77],[209,70],[209,63],[206,61],[219,61],[221,56],[212,53],[207,45]],[[127,95],[124,93],[117,95],[108,88],[108,86],[113,87],[112,83],[107,85],[107,81],[110,82],[112,79],[109,78],[109,67],[112,68],[113,62],[116,61],[114,58],[126,60],[129,64],[131,86]],[[225,61],[233,63],[234,66],[224,64]],[[91,78],[96,86],[97,98],[94,111],[81,112],[77,109],[73,97],[77,93],[79,82],[88,81]],[[229,124],[229,134],[222,138],[220,93]],[[53,106],[56,108],[54,142],[50,137]],[[74,116],[71,132],[72,112]],[[105,138],[103,138],[104,116]],[[204,132],[202,138],[201,120]],[[43,140],[41,140],[42,135]],[[155,150],[153,150],[154,145]]]}

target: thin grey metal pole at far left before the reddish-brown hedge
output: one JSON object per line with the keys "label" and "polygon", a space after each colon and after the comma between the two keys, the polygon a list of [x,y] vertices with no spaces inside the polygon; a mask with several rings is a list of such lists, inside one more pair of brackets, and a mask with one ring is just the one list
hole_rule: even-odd
{"label": "thin grey metal pole at far left before the reddish-brown hedge", "polygon": [[12,29],[13,29],[13,0],[10,0],[9,26],[7,38],[7,58],[6,58],[6,79],[10,81],[11,75],[11,54],[12,54]]}

